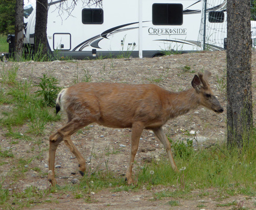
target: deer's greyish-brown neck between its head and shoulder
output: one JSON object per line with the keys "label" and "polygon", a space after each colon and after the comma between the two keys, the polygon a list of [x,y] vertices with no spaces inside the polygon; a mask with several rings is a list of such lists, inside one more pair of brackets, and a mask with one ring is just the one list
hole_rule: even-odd
{"label": "deer's greyish-brown neck between its head and shoulder", "polygon": [[200,104],[200,98],[193,88],[181,92],[169,92],[169,97],[166,100],[168,119],[186,114]]}

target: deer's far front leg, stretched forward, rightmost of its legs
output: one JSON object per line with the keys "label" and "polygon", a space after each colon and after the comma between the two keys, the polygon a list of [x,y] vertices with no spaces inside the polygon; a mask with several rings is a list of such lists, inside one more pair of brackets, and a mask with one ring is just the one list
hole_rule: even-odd
{"label": "deer's far front leg, stretched forward, rightmost of its legs", "polygon": [[156,134],[157,138],[162,142],[163,146],[165,146],[173,171],[178,172],[177,166],[175,164],[175,161],[173,160],[173,156],[171,153],[171,144],[167,139],[165,132],[163,132],[162,127],[153,130],[153,132]]}

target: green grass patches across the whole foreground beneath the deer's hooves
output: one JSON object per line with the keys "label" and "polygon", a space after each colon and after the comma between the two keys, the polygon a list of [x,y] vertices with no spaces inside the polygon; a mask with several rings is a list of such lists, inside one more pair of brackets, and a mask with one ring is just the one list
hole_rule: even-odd
{"label": "green grass patches across the whole foreground beneath the deer's hooves", "polygon": [[[213,145],[208,149],[191,150],[192,145],[177,143],[173,146],[176,164],[181,169],[175,173],[171,170],[166,155],[160,157],[160,161],[145,163],[142,167],[134,164],[134,185],[127,185],[124,177],[116,172],[109,171],[106,163],[105,169],[91,169],[88,167],[87,174],[80,178],[79,184],[63,184],[62,186],[52,187],[52,193],[69,194],[76,199],[84,199],[85,202],[96,202],[92,193],[108,189],[110,193],[138,191],[146,187],[152,191],[153,200],[163,197],[172,198],[166,205],[180,205],[176,199],[193,199],[194,196],[207,197],[213,196],[217,202],[217,207],[234,206],[234,209],[242,209],[237,202],[221,202],[229,196],[245,195],[256,196],[256,169],[255,169],[255,134],[251,137],[247,148],[228,149],[226,145]],[[186,151],[187,150],[187,151]],[[2,152],[3,153],[3,152]],[[11,156],[5,156],[11,158]],[[17,159],[16,167],[18,172],[12,172],[17,178],[30,170],[29,164],[33,159]],[[25,167],[28,165],[28,167]],[[185,168],[186,167],[186,168]],[[34,171],[40,172],[38,167],[33,167]],[[162,186],[164,190],[154,191],[153,188]],[[214,189],[209,192],[208,189]],[[197,195],[192,195],[191,191],[197,190]],[[216,196],[218,195],[218,196]],[[23,192],[8,192],[0,185],[0,200],[9,202],[20,202],[21,207],[40,202],[53,202],[50,199],[49,189],[39,190],[35,187],[28,187]],[[8,202],[7,202],[8,203]],[[6,207],[6,209],[8,209]]]}

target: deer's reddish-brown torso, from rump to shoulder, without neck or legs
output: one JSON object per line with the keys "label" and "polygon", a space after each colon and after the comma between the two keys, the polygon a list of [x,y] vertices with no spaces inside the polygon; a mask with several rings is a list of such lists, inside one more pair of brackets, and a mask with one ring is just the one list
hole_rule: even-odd
{"label": "deer's reddish-brown torso, from rump to shoulder, without neck or legs", "polygon": [[67,88],[62,101],[70,118],[90,118],[107,127],[127,128],[135,121],[147,125],[159,119],[164,123],[162,98],[168,94],[152,84],[77,83]]}

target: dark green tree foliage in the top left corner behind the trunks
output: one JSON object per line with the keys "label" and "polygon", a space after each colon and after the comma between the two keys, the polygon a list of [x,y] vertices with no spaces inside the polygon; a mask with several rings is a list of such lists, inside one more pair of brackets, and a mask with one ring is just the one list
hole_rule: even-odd
{"label": "dark green tree foliage in the top left corner behind the trunks", "polygon": [[0,1],[0,34],[14,34],[15,0]]}

